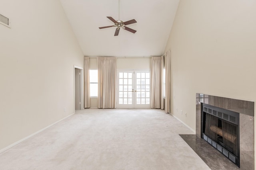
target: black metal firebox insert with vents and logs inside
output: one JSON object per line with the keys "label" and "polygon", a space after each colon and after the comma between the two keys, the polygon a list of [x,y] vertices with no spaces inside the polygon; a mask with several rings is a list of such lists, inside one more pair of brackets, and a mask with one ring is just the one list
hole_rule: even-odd
{"label": "black metal firebox insert with vents and logs inside", "polygon": [[239,113],[201,104],[201,137],[240,167]]}

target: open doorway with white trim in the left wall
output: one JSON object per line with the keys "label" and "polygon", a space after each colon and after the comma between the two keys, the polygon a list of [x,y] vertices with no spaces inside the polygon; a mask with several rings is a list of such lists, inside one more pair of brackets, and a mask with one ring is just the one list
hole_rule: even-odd
{"label": "open doorway with white trim in the left wall", "polygon": [[74,112],[83,109],[83,68],[74,66]]}

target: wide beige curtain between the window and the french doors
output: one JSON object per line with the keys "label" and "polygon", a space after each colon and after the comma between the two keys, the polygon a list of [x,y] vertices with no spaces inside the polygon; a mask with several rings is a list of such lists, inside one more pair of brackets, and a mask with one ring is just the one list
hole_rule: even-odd
{"label": "wide beige curtain between the window and the french doors", "polygon": [[98,108],[116,108],[116,57],[97,57]]}

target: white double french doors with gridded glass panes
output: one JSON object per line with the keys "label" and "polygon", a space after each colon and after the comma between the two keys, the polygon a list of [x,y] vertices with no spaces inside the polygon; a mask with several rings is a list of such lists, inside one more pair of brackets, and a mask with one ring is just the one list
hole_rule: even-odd
{"label": "white double french doors with gridded glass panes", "polygon": [[117,108],[150,108],[150,70],[117,70]]}

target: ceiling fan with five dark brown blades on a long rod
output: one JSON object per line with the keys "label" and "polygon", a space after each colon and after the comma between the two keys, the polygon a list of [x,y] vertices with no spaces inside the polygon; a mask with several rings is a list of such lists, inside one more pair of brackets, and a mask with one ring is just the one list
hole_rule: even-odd
{"label": "ceiling fan with five dark brown blades on a long rod", "polygon": [[114,22],[115,25],[99,27],[99,29],[109,28],[109,27],[117,27],[114,36],[117,36],[119,34],[120,28],[125,29],[126,31],[130,31],[132,33],[136,33],[136,30],[125,26],[125,25],[129,25],[132,23],[136,23],[137,22],[136,20],[133,19],[133,20],[125,21],[125,22],[120,20],[120,0],[118,0],[118,20],[114,20],[114,18],[112,18],[112,17],[107,17],[107,18],[110,19],[112,22]]}

